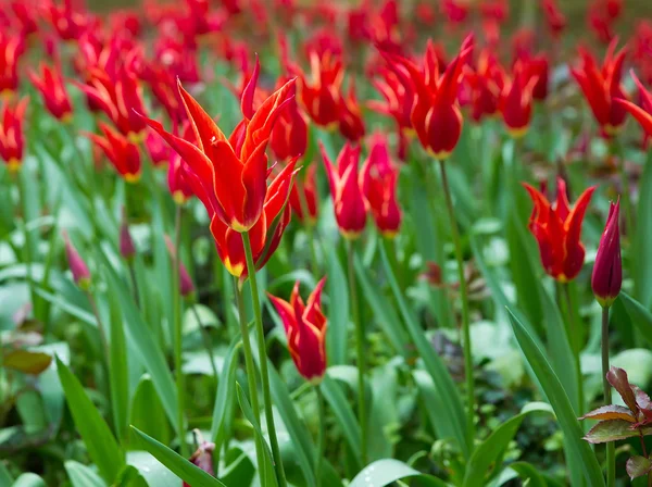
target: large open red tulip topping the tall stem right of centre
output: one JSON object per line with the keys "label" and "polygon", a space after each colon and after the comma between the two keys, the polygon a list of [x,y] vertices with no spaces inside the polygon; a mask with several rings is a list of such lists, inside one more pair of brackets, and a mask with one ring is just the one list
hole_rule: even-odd
{"label": "large open red tulip topping the tall stem right of centre", "polygon": [[[412,125],[422,146],[436,159],[447,159],[460,140],[463,120],[457,104],[457,90],[462,68],[472,49],[473,37],[469,36],[441,77],[431,57],[426,55],[426,65],[421,70],[404,58],[385,54],[390,66],[400,65],[410,74],[416,95],[411,114]],[[394,72],[398,74],[400,71]]]}

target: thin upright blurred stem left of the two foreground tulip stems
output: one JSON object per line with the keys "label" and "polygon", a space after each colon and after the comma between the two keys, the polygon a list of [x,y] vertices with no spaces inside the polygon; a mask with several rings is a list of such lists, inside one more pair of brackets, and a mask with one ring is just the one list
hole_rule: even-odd
{"label": "thin upright blurred stem left of the two foreground tulip stems", "polygon": [[188,446],[186,445],[186,419],[184,415],[184,371],[183,371],[183,344],[184,339],[181,327],[181,285],[179,272],[179,239],[181,227],[181,207],[176,207],[174,217],[174,252],[172,252],[172,299],[173,299],[173,320],[174,320],[174,365],[176,374],[177,389],[177,435],[179,437],[179,452],[181,457],[188,457]]}

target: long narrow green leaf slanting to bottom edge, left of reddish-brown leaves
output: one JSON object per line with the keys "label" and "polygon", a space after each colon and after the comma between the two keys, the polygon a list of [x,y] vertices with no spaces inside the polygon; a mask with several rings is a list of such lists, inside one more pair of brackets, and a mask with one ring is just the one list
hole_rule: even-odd
{"label": "long narrow green leaf slanting to bottom edge, left of reddish-brown leaves", "polygon": [[572,450],[572,457],[581,462],[581,469],[589,485],[594,487],[604,486],[604,478],[602,476],[600,464],[598,463],[591,447],[581,439],[584,432],[575,416],[573,405],[564,391],[562,383],[530,334],[525,329],[512,311],[509,311],[516,340],[554,409],[560,427],[564,433],[566,446]]}

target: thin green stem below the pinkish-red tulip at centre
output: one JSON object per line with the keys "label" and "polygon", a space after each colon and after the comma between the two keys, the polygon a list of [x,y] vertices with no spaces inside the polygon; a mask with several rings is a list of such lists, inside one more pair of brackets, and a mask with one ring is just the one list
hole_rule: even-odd
{"label": "thin green stem below the pinkish-red tulip at centre", "polygon": [[361,432],[361,457],[362,463],[367,463],[367,410],[366,410],[366,360],[365,360],[365,330],[364,323],[360,320],[360,303],[358,301],[358,286],[353,266],[353,241],[347,240],[347,259],[349,267],[349,298],[351,300],[351,314],[355,325],[355,351],[358,361],[358,421]]}

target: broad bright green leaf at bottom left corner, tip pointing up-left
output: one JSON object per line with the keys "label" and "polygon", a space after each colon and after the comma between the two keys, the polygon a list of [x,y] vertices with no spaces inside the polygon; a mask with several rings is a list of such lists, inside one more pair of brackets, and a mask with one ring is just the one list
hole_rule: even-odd
{"label": "broad bright green leaf at bottom left corner, tip pointing up-left", "polygon": [[112,483],[125,465],[124,453],[117,446],[109,426],[88,398],[77,377],[57,358],[59,379],[65,392],[75,426],[84,439],[91,460],[100,475]]}

